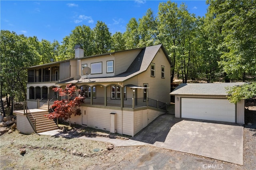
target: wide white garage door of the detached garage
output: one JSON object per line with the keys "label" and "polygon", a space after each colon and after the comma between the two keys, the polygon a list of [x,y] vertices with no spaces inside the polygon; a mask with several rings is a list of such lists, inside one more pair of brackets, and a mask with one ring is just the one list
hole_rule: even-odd
{"label": "wide white garage door of the detached garage", "polygon": [[181,117],[236,122],[236,105],[226,99],[181,99]]}

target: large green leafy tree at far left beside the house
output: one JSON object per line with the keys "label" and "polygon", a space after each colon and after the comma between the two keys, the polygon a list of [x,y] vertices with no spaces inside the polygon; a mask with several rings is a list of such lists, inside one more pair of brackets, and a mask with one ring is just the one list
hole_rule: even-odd
{"label": "large green leafy tree at far left beside the house", "polygon": [[28,38],[23,34],[17,35],[15,32],[1,30],[0,41],[1,94],[5,91],[10,96],[10,115],[12,115],[14,98],[19,101],[26,99],[27,72],[25,68],[38,64],[40,58],[36,51],[30,49]]}

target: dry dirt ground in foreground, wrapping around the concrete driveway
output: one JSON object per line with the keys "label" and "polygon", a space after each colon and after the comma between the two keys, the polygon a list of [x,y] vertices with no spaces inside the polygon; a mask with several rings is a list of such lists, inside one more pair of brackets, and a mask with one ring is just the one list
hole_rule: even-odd
{"label": "dry dirt ground in foreground, wrapping around the concrete driveway", "polygon": [[[223,169],[253,170],[256,167],[256,104],[246,104],[244,165],[153,146],[114,147],[109,143],[17,132],[0,137],[1,170],[82,169]],[[247,125],[252,123],[252,125]],[[20,154],[20,148],[26,153]],[[72,154],[73,153],[73,154]]]}

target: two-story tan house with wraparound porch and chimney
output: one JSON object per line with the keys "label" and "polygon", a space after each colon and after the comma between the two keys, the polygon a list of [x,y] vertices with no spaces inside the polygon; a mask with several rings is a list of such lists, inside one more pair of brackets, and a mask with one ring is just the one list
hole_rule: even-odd
{"label": "two-story tan house with wraparound porch and chimney", "polygon": [[75,58],[28,68],[27,99],[61,99],[52,90],[81,89],[82,115],[71,123],[134,136],[170,103],[171,62],[162,45]]}

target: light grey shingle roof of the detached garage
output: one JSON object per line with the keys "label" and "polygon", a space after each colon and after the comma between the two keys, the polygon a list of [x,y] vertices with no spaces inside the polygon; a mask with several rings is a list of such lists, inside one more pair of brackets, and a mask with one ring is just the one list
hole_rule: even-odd
{"label": "light grey shingle roof of the detached garage", "polygon": [[237,83],[182,83],[170,93],[170,95],[224,95],[226,87],[243,85],[244,82]]}

